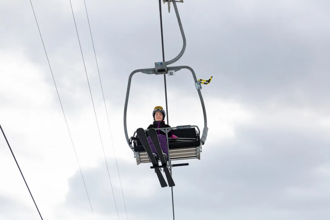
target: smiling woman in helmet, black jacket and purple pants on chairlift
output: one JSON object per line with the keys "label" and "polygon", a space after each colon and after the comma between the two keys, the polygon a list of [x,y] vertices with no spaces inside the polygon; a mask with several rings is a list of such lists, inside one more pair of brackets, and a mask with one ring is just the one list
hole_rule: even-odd
{"label": "smiling woman in helmet, black jacket and purple pants on chairlift", "polygon": [[[153,111],[152,111],[152,117],[153,117],[153,123],[149,125],[149,127],[147,129],[150,128],[170,128],[171,126],[165,124],[165,110],[163,109],[163,107],[161,106],[156,106]],[[166,162],[168,161],[168,148],[167,148],[167,140],[166,140],[166,134],[161,131],[161,130],[157,130],[157,134],[158,134],[158,139],[159,139],[159,143],[160,143],[160,147],[162,148],[163,151],[163,155],[165,157]],[[148,137],[148,141],[149,141],[149,145],[151,147],[153,156],[155,157],[155,159],[158,161],[158,156],[157,156],[157,151],[155,146],[153,145],[148,132],[146,132],[146,135]],[[167,133],[167,137],[169,138],[178,138],[177,136],[175,136],[173,134],[172,131]]]}

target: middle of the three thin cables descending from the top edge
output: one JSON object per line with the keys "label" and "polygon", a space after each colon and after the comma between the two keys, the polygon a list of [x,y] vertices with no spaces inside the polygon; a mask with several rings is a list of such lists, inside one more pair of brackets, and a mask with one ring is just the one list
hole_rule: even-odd
{"label": "middle of the three thin cables descending from the top edge", "polygon": [[88,87],[89,87],[90,96],[91,96],[91,99],[92,99],[92,104],[93,104],[93,109],[94,109],[94,113],[95,113],[95,118],[96,118],[97,128],[98,128],[98,131],[99,131],[99,134],[100,134],[100,139],[101,139],[101,145],[102,145],[102,149],[103,149],[104,159],[105,159],[106,166],[107,166],[107,171],[108,171],[108,175],[109,175],[109,180],[110,180],[111,190],[112,190],[112,194],[113,194],[113,197],[114,197],[115,206],[116,206],[116,212],[117,212],[117,216],[118,216],[118,220],[119,220],[119,214],[118,214],[118,209],[117,209],[117,204],[116,204],[116,199],[115,199],[114,189],[113,189],[113,187],[112,187],[112,182],[111,182],[111,177],[110,177],[110,173],[109,173],[108,162],[107,162],[107,158],[106,158],[106,156],[105,156],[105,152],[104,152],[104,146],[103,146],[103,141],[102,141],[102,137],[101,137],[100,127],[99,127],[99,123],[98,123],[97,116],[96,116],[96,110],[95,110],[95,106],[94,106],[93,96],[92,96],[92,92],[91,92],[90,85],[89,85],[89,80],[88,80],[88,76],[87,76],[86,65],[85,65],[85,61],[84,61],[84,58],[83,58],[82,47],[81,47],[81,44],[80,44],[80,39],[79,39],[79,34],[78,34],[78,29],[77,29],[77,24],[76,24],[76,19],[75,19],[75,15],[74,15],[74,13],[73,13],[73,8],[72,8],[71,0],[70,0],[70,6],[71,6],[71,11],[72,11],[73,20],[74,20],[74,22],[75,22],[75,27],[76,27],[76,32],[77,32],[77,37],[78,37],[79,47],[80,47],[80,51],[81,51],[81,54],[82,54],[82,62],[83,62],[84,68],[85,68],[85,73],[86,73],[86,77],[87,77],[87,82],[88,82]]}

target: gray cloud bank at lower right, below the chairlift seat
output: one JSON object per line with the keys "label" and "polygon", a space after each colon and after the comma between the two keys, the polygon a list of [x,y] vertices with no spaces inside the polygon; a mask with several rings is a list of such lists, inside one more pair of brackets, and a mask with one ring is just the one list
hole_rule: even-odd
{"label": "gray cloud bank at lower right, below the chairlift seat", "polygon": [[[198,219],[203,215],[223,219],[241,219],[243,216],[248,219],[252,216],[327,219],[330,216],[327,210],[329,178],[317,172],[319,167],[329,166],[329,139],[322,131],[297,131],[261,124],[240,127],[237,132],[234,141],[209,141],[203,148],[201,161],[189,160],[188,167],[174,169],[177,218]],[[121,176],[125,177],[122,181],[129,181],[133,190],[138,191],[139,184],[135,185],[132,180],[141,175],[143,178],[151,175],[153,181],[145,184],[157,186],[156,192],[152,191],[147,198],[126,194],[129,215],[145,214],[146,219],[151,219],[162,211],[164,216],[159,218],[168,219],[171,216],[170,190],[158,186],[148,165],[121,163],[121,166]],[[85,178],[94,182],[90,187],[94,205],[101,208],[100,212],[111,213],[110,198],[104,198],[104,195],[111,195],[110,186],[105,177],[101,177],[105,176],[101,169],[86,171]],[[65,205],[79,205],[74,202],[82,193],[78,190],[81,186],[77,175],[70,181],[67,198],[71,199]],[[115,190],[119,192],[120,188]],[[120,198],[121,195],[117,195]]]}

